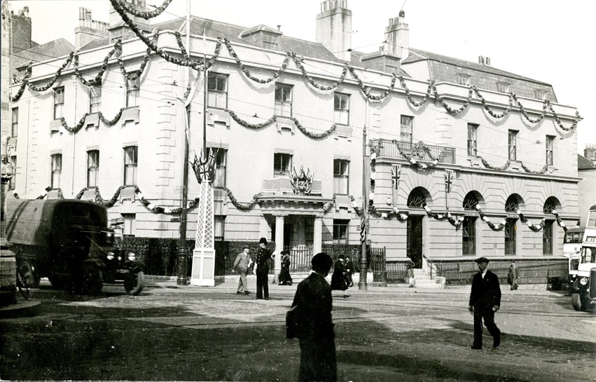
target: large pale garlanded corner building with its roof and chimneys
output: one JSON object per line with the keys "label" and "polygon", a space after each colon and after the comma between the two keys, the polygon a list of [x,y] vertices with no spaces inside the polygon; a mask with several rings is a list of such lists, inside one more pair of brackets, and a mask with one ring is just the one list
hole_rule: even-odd
{"label": "large pale garlanded corner building with its roof and chimneys", "polygon": [[[548,83],[410,48],[403,12],[378,52],[352,51],[345,0],[321,3],[314,42],[196,17],[187,38],[184,20],[136,9],[109,25],[84,13],[77,53],[19,68],[21,198],[103,201],[125,235],[175,239],[184,142],[192,160],[205,139],[216,240],[316,253],[359,244],[365,221],[370,245],[417,268],[562,254],[579,117]],[[191,173],[189,200],[199,188]]]}

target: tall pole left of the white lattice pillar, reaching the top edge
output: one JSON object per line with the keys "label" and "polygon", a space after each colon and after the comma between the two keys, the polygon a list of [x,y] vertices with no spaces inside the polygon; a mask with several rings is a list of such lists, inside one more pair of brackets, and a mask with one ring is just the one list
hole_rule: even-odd
{"label": "tall pole left of the white lattice pillar, reaching the top edge", "polygon": [[[190,0],[186,0],[186,48],[190,57]],[[186,263],[188,254],[186,250],[186,216],[188,204],[188,132],[190,131],[190,70],[186,71],[186,102],[184,107],[186,126],[183,130],[184,163],[182,165],[182,209],[180,212],[180,237],[178,240],[178,278],[176,285],[186,285]]]}

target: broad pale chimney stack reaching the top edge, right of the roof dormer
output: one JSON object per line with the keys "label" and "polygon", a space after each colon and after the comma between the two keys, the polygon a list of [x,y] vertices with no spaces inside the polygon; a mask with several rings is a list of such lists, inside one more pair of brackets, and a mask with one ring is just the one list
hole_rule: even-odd
{"label": "broad pale chimney stack reaching the top edge, right of the roof dormer", "polygon": [[347,0],[325,0],[321,3],[316,41],[340,60],[352,60],[352,11],[347,9]]}

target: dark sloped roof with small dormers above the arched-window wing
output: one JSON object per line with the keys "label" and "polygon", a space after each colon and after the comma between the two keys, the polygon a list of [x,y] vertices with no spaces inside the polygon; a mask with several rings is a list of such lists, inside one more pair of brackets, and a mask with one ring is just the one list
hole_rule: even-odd
{"label": "dark sloped roof with small dormers above the arched-window wing", "polygon": [[549,83],[530,79],[478,62],[461,60],[459,58],[431,53],[427,50],[410,48],[410,55],[401,64],[407,67],[410,63],[422,60],[429,60],[429,74],[431,79],[435,81],[457,83],[456,74],[469,74],[472,85],[476,85],[478,88],[497,90],[497,82],[503,81],[510,83],[510,91],[521,97],[535,98],[534,90],[540,89],[546,91],[547,100],[557,102],[553,86]]}

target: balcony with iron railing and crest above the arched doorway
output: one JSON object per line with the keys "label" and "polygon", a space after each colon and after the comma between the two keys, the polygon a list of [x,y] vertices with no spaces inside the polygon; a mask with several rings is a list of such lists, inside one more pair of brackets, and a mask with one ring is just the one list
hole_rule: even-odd
{"label": "balcony with iron railing and crest above the arched doorway", "polygon": [[418,143],[400,142],[395,139],[375,139],[374,143],[380,148],[377,156],[455,164],[455,147],[435,146],[422,141]]}

